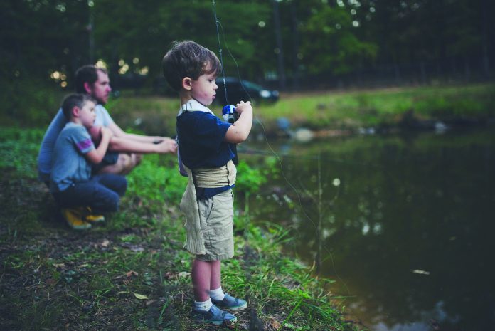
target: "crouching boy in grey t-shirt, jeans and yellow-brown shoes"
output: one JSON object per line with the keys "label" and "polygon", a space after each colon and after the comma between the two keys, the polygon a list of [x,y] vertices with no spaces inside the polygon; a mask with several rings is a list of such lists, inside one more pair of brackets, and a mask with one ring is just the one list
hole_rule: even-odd
{"label": "crouching boy in grey t-shirt, jeans and yellow-brown shoes", "polygon": [[127,181],[117,174],[91,175],[92,164],[105,157],[112,137],[110,129],[101,127],[100,145],[93,145],[88,130],[96,118],[95,101],[89,95],[71,94],[63,100],[62,110],[68,123],[53,149],[50,192],[69,226],[82,230],[94,221],[102,221],[99,214],[117,211]]}

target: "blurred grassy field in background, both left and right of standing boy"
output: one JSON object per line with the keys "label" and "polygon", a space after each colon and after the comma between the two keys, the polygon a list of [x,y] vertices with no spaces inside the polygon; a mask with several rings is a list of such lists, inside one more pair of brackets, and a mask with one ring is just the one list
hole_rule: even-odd
{"label": "blurred grassy field in background, both left and right of standing boy", "polygon": [[[150,134],[175,132],[178,98],[124,95],[109,107],[122,127]],[[220,114],[220,105],[211,108]],[[255,116],[265,123],[267,130],[275,129],[279,117],[287,117],[292,127],[356,130],[398,125],[405,115],[415,120],[482,122],[495,117],[495,83],[282,93],[275,104],[255,105]]]}

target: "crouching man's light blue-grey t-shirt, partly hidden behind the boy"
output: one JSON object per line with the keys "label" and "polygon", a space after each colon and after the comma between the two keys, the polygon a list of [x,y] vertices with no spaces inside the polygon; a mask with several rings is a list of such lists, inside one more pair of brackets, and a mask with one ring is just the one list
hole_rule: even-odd
{"label": "crouching man's light blue-grey t-shirt, partly hidden behind the boy", "polygon": [[[95,107],[95,112],[95,126],[108,127],[114,122],[102,105],[97,105]],[[40,152],[38,154],[38,178],[41,182],[48,182],[50,180],[53,148],[55,147],[57,137],[60,134],[60,131],[65,127],[65,124],[67,124],[67,118],[65,118],[62,109],[60,109],[50,122],[50,126],[48,126],[43,141],[41,142]]]}

